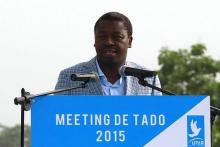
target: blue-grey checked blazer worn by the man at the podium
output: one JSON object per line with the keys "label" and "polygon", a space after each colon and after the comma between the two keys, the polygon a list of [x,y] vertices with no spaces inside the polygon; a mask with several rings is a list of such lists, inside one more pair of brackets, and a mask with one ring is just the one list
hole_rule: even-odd
{"label": "blue-grey checked blazer worn by the man at the podium", "polygon": [[[126,62],[126,65],[134,68],[144,69],[142,66],[139,66],[133,62]],[[55,89],[63,89],[69,87],[79,86],[81,82],[71,81],[71,74],[73,73],[89,73],[96,72],[96,57],[91,59],[88,62],[83,62],[72,66],[70,68],[64,69],[60,72],[58,82]],[[146,78],[148,83],[153,84],[154,78]],[[103,90],[100,82],[89,82],[88,86],[83,89],[71,90],[59,93],[61,95],[103,95]],[[156,77],[155,86],[160,87],[160,81]],[[149,87],[144,87],[138,83],[138,78],[127,76],[126,77],[126,86],[125,86],[126,95],[162,95],[161,92],[154,90]]]}

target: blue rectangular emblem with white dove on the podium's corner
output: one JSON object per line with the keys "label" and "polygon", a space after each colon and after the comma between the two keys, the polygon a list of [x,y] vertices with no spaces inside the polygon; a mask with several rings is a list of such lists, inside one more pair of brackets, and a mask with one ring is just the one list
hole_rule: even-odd
{"label": "blue rectangular emblem with white dove on the podium's corner", "polygon": [[188,147],[205,147],[204,116],[187,116],[187,142]]}

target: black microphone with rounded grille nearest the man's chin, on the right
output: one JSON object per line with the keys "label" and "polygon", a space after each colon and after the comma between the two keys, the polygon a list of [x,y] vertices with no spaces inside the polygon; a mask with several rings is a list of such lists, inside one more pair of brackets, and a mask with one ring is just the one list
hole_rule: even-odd
{"label": "black microphone with rounded grille nearest the man's chin, on the right", "polygon": [[133,77],[137,77],[137,78],[140,79],[140,78],[156,76],[157,75],[157,71],[132,68],[132,67],[124,65],[124,66],[120,67],[119,74],[121,76],[133,76]]}

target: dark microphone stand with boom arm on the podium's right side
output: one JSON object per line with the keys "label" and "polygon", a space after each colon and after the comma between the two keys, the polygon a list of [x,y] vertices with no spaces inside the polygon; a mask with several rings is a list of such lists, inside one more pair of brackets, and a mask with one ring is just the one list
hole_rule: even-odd
{"label": "dark microphone stand with boom arm on the podium's right side", "polygon": [[[154,85],[152,85],[152,84],[149,84],[146,80],[144,80],[144,77],[140,77],[140,78],[138,78],[138,83],[140,84],[140,85],[142,85],[142,86],[144,86],[144,87],[150,87],[150,88],[152,88],[152,89],[156,89],[156,90],[158,90],[158,91],[160,91],[160,92],[162,92],[162,93],[165,93],[165,94],[167,94],[167,95],[176,95],[176,94],[174,94],[174,93],[172,93],[172,92],[169,92],[169,91],[167,91],[167,90],[164,90],[164,89],[162,89],[162,88],[159,88],[159,87],[157,87],[157,86],[154,86]],[[220,116],[220,109],[219,108],[216,108],[216,107],[213,107],[213,106],[210,106],[210,114],[211,114],[211,119],[210,119],[210,122],[211,122],[211,146],[212,146],[212,127],[213,127],[213,125],[214,125],[214,122],[215,122],[215,118],[216,118],[216,116]]]}

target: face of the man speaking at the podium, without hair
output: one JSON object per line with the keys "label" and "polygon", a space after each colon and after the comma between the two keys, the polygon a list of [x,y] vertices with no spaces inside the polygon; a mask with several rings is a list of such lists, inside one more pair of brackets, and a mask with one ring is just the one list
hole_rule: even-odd
{"label": "face of the man speaking at the podium, without hair", "polygon": [[132,37],[122,21],[102,21],[95,31],[95,49],[99,63],[122,65],[131,47]]}

